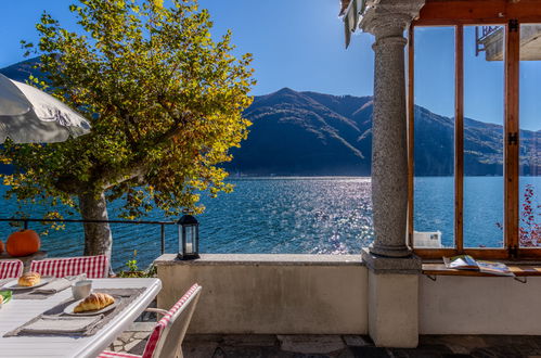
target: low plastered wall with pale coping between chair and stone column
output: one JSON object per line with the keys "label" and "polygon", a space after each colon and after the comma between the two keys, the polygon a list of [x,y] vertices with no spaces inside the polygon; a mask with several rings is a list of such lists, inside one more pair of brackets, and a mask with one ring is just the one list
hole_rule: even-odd
{"label": "low plastered wall with pale coping between chair and stone column", "polygon": [[368,270],[360,255],[202,255],[155,261],[168,309],[203,286],[190,333],[366,334]]}

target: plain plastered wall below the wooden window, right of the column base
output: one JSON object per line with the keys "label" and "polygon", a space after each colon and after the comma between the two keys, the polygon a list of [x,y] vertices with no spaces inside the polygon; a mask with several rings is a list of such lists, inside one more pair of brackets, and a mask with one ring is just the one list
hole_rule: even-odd
{"label": "plain plastered wall below the wooden window, right of the column base", "polygon": [[420,278],[420,334],[541,334],[541,278]]}

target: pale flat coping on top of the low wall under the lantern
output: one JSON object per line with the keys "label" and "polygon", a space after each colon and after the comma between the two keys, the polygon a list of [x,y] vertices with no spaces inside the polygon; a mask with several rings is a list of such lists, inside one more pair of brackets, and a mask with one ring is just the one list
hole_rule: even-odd
{"label": "pale flat coping on top of the low wall under the lantern", "polygon": [[361,255],[201,254],[198,259],[179,260],[177,254],[164,254],[154,265],[364,266],[364,263]]}

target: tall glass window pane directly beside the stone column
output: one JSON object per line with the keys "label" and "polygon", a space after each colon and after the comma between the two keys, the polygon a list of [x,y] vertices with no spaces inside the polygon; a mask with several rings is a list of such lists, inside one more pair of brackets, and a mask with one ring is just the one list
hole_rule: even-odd
{"label": "tall glass window pane directly beside the stone column", "polygon": [[414,247],[454,247],[454,27],[416,27]]}

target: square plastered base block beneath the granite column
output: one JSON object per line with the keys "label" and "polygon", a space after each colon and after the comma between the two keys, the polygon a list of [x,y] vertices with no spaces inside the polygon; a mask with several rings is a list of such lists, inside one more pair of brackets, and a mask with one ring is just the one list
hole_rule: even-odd
{"label": "square plastered base block beneath the granite column", "polygon": [[421,259],[378,257],[366,248],[362,258],[369,268],[369,334],[374,344],[416,347]]}

